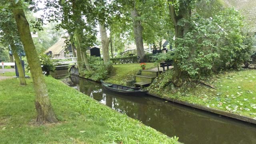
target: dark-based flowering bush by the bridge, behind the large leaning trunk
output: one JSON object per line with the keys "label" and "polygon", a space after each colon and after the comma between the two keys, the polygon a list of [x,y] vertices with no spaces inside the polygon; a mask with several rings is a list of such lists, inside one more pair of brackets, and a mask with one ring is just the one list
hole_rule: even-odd
{"label": "dark-based flowering bush by the bridge, behind the large leaning trunk", "polygon": [[[54,63],[56,61],[52,60],[48,55],[44,53],[40,54],[38,57],[39,57],[44,75],[50,75],[50,71],[55,70],[56,65]],[[28,65],[26,66],[26,72],[30,72],[30,67]]]}

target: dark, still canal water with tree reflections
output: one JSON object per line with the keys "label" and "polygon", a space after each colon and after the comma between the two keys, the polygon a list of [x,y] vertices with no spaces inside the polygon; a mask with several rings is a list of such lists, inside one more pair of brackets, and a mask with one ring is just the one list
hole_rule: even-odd
{"label": "dark, still canal water with tree reflections", "polygon": [[116,95],[100,83],[76,76],[60,79],[112,109],[142,121],[185,144],[256,144],[256,125],[155,97]]}

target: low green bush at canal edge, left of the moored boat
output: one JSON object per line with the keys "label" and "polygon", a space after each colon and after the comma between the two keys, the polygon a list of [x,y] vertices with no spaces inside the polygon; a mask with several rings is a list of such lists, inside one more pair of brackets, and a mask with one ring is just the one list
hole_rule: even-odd
{"label": "low green bush at canal edge, left of the moored boat", "polygon": [[94,81],[105,79],[108,76],[108,71],[104,67],[104,62],[100,57],[91,56],[89,60],[92,71],[85,70],[84,76],[92,78]]}

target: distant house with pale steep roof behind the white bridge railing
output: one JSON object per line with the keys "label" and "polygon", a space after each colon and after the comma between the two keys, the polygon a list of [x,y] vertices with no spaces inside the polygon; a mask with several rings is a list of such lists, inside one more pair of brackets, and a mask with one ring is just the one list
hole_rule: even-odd
{"label": "distant house with pale steep roof behind the white bridge railing", "polygon": [[64,58],[64,57],[73,57],[71,44],[68,46],[68,49],[65,50],[65,39],[61,38],[59,41],[54,43],[49,47],[45,53],[47,55],[52,55],[54,58]]}

